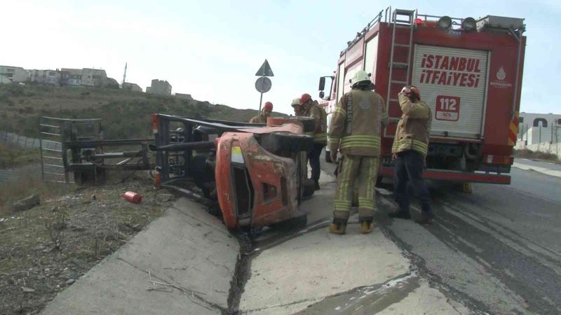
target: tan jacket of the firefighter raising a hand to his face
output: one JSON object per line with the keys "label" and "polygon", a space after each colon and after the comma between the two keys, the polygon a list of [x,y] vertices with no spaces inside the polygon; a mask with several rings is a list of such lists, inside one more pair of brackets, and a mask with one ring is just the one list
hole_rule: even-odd
{"label": "tan jacket of the firefighter raising a hand to his face", "polygon": [[414,150],[426,156],[428,134],[431,132],[431,109],[420,100],[413,103],[403,93],[398,94],[403,115],[398,123],[391,153]]}

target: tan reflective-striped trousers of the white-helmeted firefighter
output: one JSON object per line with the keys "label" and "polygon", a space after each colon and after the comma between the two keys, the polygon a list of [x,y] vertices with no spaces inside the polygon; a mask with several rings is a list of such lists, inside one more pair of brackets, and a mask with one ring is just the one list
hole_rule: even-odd
{"label": "tan reflective-striped trousers of the white-helmeted firefighter", "polygon": [[358,216],[360,221],[372,221],[379,157],[343,155],[337,175],[337,191],[333,201],[334,218],[349,219],[351,202],[358,181]]}

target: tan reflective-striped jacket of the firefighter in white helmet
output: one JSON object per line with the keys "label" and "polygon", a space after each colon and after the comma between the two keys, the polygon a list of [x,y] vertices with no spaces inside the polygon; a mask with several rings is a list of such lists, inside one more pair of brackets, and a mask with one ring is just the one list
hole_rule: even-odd
{"label": "tan reflective-striped jacket of the firefighter in white helmet", "polygon": [[384,99],[372,90],[351,90],[332,113],[329,148],[347,155],[379,156],[381,124],[388,124]]}

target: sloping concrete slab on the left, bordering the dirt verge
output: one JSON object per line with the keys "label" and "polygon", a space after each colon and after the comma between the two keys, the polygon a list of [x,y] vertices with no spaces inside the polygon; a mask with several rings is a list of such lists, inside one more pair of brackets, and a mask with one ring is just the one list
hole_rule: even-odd
{"label": "sloping concrete slab on the left, bordering the dirt verge", "polygon": [[238,253],[238,241],[217,218],[181,198],[43,314],[220,314]]}

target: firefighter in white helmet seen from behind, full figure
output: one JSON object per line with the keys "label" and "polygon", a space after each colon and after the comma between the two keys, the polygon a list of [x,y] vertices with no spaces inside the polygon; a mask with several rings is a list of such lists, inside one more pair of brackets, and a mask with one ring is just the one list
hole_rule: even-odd
{"label": "firefighter in white helmet seen from behind, full figure", "polygon": [[349,220],[353,190],[358,181],[358,219],[360,232],[372,232],[374,225],[374,185],[378,176],[381,125],[388,124],[384,99],[372,91],[365,71],[356,71],[351,91],[339,99],[332,113],[329,146],[332,160],[342,153],[337,192],[333,201],[333,222],[329,231],[344,234]]}

